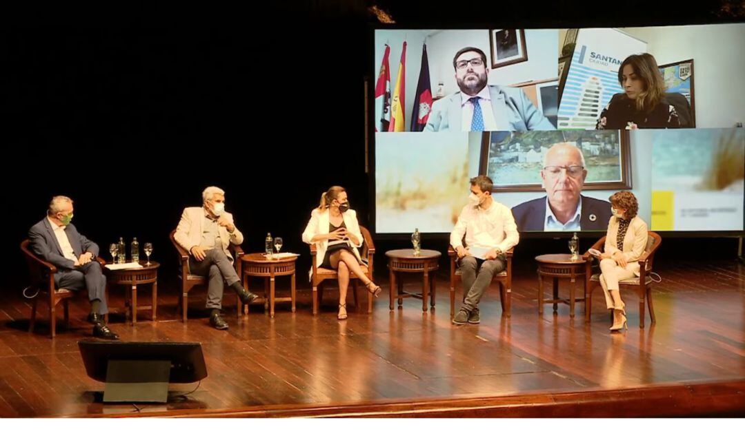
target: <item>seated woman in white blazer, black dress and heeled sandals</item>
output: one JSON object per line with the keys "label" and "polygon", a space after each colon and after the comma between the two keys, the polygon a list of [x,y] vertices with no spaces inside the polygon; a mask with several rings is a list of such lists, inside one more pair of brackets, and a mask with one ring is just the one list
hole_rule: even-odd
{"label": "seated woman in white blazer, black dress and heeled sandals", "polygon": [[[378,296],[381,288],[367,278],[361,265],[364,264],[357,250],[363,238],[357,222],[357,213],[349,209],[346,190],[331,187],[321,195],[320,204],[311,213],[311,220],[302,233],[302,241],[316,245],[316,264],[319,268],[337,271],[339,279],[338,319],[346,320],[346,290],[349,273],[364,282],[368,290]],[[311,276],[313,268],[311,268]]]}

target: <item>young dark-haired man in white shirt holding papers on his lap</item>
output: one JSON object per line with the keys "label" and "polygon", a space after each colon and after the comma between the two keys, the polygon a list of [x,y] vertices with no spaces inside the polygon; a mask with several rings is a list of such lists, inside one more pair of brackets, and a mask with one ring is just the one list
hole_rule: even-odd
{"label": "young dark-haired man in white shirt holding papers on his lap", "polygon": [[481,322],[478,302],[494,275],[507,266],[505,253],[520,239],[510,208],[492,198],[493,185],[486,175],[471,179],[470,203],[460,211],[450,233],[463,277],[463,305],[453,318],[459,326]]}

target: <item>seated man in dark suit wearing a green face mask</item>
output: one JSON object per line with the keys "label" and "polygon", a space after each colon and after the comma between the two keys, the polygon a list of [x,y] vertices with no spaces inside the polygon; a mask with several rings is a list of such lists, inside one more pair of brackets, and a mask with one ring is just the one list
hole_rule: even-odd
{"label": "seated man in dark suit wearing a green face mask", "polygon": [[64,195],[51,199],[47,216],[28,231],[31,249],[40,258],[57,266],[54,284],[71,291],[87,289],[91,303],[88,321],[93,336],[118,339],[104,323],[107,314],[106,276],[96,261],[98,245],[77,232],[72,221],[72,200]]}

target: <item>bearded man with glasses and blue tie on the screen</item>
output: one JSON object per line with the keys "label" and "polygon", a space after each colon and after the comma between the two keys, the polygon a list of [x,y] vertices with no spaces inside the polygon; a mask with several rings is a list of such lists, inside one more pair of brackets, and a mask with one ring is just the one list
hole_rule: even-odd
{"label": "bearded man with glasses and blue tie on the screen", "polygon": [[487,85],[486,55],[463,48],[453,58],[460,91],[435,101],[425,132],[527,132],[554,130],[519,88]]}

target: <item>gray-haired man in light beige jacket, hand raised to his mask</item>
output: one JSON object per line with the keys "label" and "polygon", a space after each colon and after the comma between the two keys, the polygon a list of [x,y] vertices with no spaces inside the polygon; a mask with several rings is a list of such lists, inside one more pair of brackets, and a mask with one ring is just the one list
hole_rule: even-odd
{"label": "gray-haired man in light beige jacket, hand raised to his mask", "polygon": [[215,329],[226,330],[228,324],[220,316],[225,284],[235,290],[244,304],[258,295],[243,288],[232,264],[228,246],[240,245],[243,234],[235,227],[232,214],[225,212],[225,192],[208,187],[202,193],[202,203],[201,207],[184,209],[174,239],[190,254],[189,273],[209,277],[206,304],[210,309],[209,322]]}

